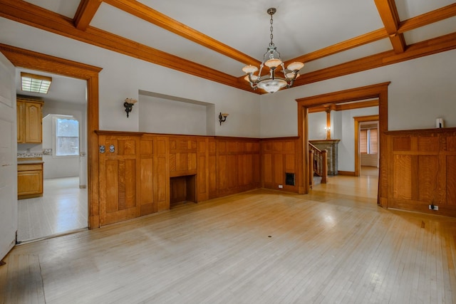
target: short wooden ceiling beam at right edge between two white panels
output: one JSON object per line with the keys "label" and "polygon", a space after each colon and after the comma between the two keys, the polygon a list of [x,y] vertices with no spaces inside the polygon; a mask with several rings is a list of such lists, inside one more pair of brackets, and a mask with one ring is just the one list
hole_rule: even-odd
{"label": "short wooden ceiling beam at right edge between two white panels", "polygon": [[456,16],[456,3],[444,6],[440,9],[435,9],[434,11],[429,11],[420,16],[415,16],[413,18],[401,21],[399,23],[398,33],[412,31],[415,28],[427,26],[428,24],[442,21],[454,16]]}

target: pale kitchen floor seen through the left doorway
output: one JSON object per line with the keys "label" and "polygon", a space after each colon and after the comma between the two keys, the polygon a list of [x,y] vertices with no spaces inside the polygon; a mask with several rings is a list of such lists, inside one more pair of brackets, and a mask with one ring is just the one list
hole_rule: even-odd
{"label": "pale kitchen floor seen through the left doorway", "polygon": [[78,177],[45,179],[42,197],[18,201],[17,241],[66,234],[88,226],[87,189]]}

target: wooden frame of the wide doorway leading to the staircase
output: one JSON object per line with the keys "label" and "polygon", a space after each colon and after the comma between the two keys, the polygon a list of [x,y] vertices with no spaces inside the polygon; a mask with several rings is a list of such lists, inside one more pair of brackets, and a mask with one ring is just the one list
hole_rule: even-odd
{"label": "wooden frame of the wide doorway leading to the staircase", "polygon": [[378,168],[378,200],[377,204],[386,206],[388,197],[387,183],[387,146],[383,132],[388,131],[388,85],[390,82],[366,85],[360,88],[351,88],[322,95],[314,95],[296,99],[298,104],[298,188],[300,194],[308,194],[309,186],[309,130],[307,115],[309,108],[332,103],[346,103],[350,101],[378,98],[378,142],[380,145],[380,163]]}

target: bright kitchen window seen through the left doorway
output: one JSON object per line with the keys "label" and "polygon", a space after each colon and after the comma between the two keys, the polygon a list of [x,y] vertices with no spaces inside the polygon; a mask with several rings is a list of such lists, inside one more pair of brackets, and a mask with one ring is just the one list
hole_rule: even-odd
{"label": "bright kitchen window seen through the left doorway", "polygon": [[56,117],[56,156],[79,155],[79,122]]}

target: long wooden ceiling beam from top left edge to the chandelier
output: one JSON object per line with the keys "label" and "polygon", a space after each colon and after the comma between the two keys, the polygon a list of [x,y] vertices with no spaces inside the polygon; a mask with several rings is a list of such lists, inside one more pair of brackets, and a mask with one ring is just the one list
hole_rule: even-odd
{"label": "long wooden ceiling beam from top left edge to the chandelier", "polygon": [[104,0],[105,3],[115,6],[118,9],[126,11],[128,14],[132,14],[142,20],[147,22],[153,23],[156,26],[160,26],[167,31],[175,33],[183,38],[186,38],[190,41],[198,43],[201,46],[211,49],[212,51],[216,51],[217,53],[221,53],[224,56],[234,59],[235,61],[239,61],[240,63],[244,63],[246,65],[257,65],[261,64],[255,58],[247,56],[244,53],[237,51],[235,48],[231,46],[227,46],[224,43],[221,43],[214,38],[211,38],[204,33],[196,31],[189,26],[186,26],[179,21],[171,19],[170,17],[160,13],[159,11],[155,11],[155,9],[151,9],[149,6],[145,4],[141,4],[138,1],[133,0]]}

